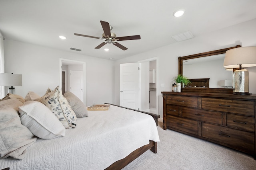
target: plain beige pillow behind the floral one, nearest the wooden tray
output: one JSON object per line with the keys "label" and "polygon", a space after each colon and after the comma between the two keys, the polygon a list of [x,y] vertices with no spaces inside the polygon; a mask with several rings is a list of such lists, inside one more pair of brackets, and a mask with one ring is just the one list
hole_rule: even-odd
{"label": "plain beige pillow behind the floral one, nearest the wooden tray", "polygon": [[72,92],[66,92],[64,97],[76,113],[76,117],[88,117],[88,111],[84,103]]}

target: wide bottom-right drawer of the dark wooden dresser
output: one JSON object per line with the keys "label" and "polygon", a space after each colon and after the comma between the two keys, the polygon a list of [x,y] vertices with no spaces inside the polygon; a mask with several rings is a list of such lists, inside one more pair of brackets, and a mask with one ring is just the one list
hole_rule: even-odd
{"label": "wide bottom-right drawer of the dark wooden dresser", "polygon": [[202,122],[202,137],[240,151],[254,153],[254,133]]}

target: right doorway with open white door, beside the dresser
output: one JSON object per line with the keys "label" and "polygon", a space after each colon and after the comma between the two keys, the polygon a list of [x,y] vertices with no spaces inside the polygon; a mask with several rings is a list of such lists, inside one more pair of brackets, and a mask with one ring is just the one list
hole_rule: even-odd
{"label": "right doorway with open white door, beside the dresser", "polygon": [[[154,83],[154,96],[152,97],[155,99],[155,106],[151,107],[151,109],[150,109],[150,103],[149,103],[150,102],[150,63],[154,63],[154,70],[156,71],[156,74],[155,74],[156,81]],[[124,66],[125,66],[125,69],[127,68],[126,70],[124,69]],[[130,66],[129,69],[126,66]],[[131,68],[131,66],[133,68]],[[123,72],[124,70],[125,72]],[[138,84],[136,82],[138,82]],[[139,108],[142,111],[158,114],[158,95],[157,95],[158,88],[157,87],[158,87],[158,58],[157,57],[143,60],[143,61],[138,61],[138,63],[120,64],[120,106],[125,104],[124,107],[129,107],[133,109]],[[133,92],[134,94],[129,94],[131,92]],[[136,95],[137,93],[138,95]],[[124,100],[123,100],[124,97],[127,97],[126,103],[124,103]]]}

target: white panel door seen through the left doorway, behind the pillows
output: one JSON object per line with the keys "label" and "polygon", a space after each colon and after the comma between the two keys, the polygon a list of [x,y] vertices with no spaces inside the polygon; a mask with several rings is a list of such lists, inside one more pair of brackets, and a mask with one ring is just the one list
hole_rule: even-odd
{"label": "white panel door seen through the left doorway, behind the pillows", "polygon": [[69,80],[70,92],[83,102],[83,71],[70,70]]}

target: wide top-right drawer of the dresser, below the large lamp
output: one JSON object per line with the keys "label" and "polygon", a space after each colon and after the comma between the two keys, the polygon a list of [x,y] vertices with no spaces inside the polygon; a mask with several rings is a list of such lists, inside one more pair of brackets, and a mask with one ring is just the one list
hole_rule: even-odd
{"label": "wide top-right drawer of the dresser, below the large lamp", "polygon": [[202,98],[202,109],[254,116],[253,101]]}

